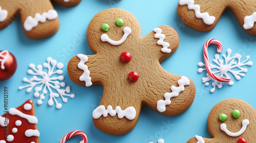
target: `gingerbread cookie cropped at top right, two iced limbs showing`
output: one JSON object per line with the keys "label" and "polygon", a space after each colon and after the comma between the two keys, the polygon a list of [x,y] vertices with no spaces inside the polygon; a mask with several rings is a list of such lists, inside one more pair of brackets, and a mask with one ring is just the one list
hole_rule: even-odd
{"label": "gingerbread cookie cropped at top right, two iced limbs showing", "polygon": [[223,12],[229,9],[247,33],[256,35],[255,2],[251,0],[180,0],[177,12],[188,27],[198,31],[211,31]]}

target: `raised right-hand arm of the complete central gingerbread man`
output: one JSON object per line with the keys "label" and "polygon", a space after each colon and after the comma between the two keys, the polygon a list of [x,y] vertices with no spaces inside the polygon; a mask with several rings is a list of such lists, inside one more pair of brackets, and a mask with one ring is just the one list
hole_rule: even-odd
{"label": "raised right-hand arm of the complete central gingerbread man", "polygon": [[171,56],[179,46],[179,36],[177,32],[169,26],[163,25],[155,28],[151,33],[142,38],[146,44],[145,47],[150,44],[151,54],[157,54],[159,62],[167,59]]}

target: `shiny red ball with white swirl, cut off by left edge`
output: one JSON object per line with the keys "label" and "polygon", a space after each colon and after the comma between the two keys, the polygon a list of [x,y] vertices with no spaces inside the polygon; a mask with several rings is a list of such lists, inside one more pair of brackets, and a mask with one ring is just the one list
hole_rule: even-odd
{"label": "shiny red ball with white swirl, cut off by left edge", "polygon": [[0,51],[0,80],[7,80],[12,77],[17,68],[17,61],[12,53]]}

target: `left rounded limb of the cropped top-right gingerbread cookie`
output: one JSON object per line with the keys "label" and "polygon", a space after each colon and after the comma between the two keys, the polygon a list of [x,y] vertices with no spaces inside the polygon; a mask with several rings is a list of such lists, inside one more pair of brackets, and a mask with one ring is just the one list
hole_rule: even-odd
{"label": "left rounded limb of the cropped top-right gingerbread cookie", "polygon": [[[216,5],[216,3],[220,3]],[[180,0],[177,12],[188,27],[198,31],[211,31],[226,8],[226,1]]]}

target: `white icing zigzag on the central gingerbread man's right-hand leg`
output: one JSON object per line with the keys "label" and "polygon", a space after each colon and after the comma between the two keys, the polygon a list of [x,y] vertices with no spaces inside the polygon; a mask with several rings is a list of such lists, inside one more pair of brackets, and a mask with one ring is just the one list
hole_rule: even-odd
{"label": "white icing zigzag on the central gingerbread man's right-hand leg", "polygon": [[171,101],[170,101],[170,98],[173,98],[173,97],[178,97],[179,96],[179,93],[181,91],[184,91],[185,88],[184,86],[185,85],[189,85],[190,82],[189,82],[189,79],[187,77],[184,77],[182,76],[180,80],[178,80],[178,84],[179,84],[179,87],[176,87],[176,86],[171,86],[170,89],[172,89],[172,92],[167,92],[164,94],[164,98],[165,100],[159,100],[157,102],[157,110],[159,112],[164,112],[166,110],[166,105],[170,105]]}

